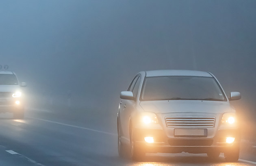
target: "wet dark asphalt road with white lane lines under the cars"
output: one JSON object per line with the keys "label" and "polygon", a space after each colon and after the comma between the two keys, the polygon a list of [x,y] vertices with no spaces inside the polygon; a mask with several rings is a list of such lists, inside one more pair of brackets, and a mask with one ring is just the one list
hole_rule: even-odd
{"label": "wet dark asphalt road with white lane lines under the cars", "polygon": [[[143,162],[120,159],[117,135],[87,123],[27,111],[23,120],[0,115],[0,166],[255,166],[253,154],[237,163],[205,154],[147,154]],[[89,126],[89,127],[88,127]]]}

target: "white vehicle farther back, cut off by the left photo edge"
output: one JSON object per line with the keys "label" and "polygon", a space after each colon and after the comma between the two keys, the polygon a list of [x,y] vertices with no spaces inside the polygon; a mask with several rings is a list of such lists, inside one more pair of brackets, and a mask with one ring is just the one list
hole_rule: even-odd
{"label": "white vehicle farther back, cut off by the left photo edge", "polygon": [[[0,65],[0,68],[2,66]],[[8,69],[7,66],[4,67]],[[13,113],[13,118],[24,118],[24,98],[21,87],[26,83],[19,83],[14,72],[0,70],[0,113]]]}

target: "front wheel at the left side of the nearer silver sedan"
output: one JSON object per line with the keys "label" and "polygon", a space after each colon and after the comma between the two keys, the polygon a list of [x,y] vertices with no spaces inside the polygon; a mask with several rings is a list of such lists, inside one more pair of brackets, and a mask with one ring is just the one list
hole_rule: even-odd
{"label": "front wheel at the left side of the nearer silver sedan", "polygon": [[133,130],[130,134],[130,155],[134,161],[141,161],[145,157],[145,151],[139,149],[135,143]]}

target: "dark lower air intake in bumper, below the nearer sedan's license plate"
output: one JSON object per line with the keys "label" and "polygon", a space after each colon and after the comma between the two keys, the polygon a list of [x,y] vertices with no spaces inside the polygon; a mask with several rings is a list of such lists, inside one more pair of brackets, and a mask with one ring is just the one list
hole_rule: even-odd
{"label": "dark lower air intake in bumper, below the nearer sedan's license plate", "polygon": [[211,146],[213,144],[213,139],[170,139],[168,140],[171,146]]}

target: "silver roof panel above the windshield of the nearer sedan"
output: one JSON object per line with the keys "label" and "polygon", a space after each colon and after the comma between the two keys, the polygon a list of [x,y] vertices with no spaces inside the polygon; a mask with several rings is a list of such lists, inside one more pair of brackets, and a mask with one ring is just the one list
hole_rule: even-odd
{"label": "silver roof panel above the windshield of the nearer sedan", "polygon": [[145,71],[146,77],[158,76],[195,76],[195,77],[213,77],[209,72],[195,70],[151,70]]}

